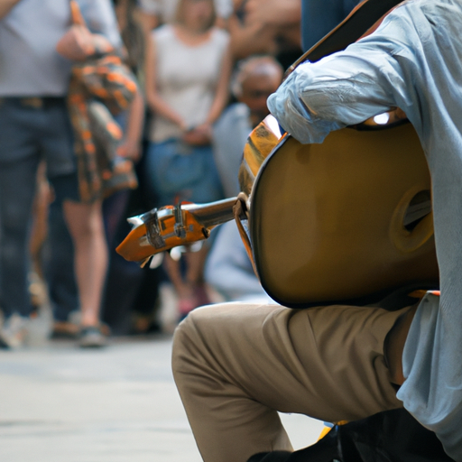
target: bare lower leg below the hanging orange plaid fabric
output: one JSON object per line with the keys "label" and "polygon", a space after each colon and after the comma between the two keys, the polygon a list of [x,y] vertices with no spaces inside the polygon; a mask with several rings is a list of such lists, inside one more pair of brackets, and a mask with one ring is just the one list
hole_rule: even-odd
{"label": "bare lower leg below the hanging orange plaid fabric", "polygon": [[101,202],[64,200],[64,217],[74,242],[82,328],[99,325],[101,296],[106,280],[107,246]]}

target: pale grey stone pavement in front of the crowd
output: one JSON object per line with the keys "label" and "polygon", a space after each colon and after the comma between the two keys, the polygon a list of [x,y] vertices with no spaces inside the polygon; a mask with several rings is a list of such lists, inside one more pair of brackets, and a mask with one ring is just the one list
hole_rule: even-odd
{"label": "pale grey stone pavement in front of the crowd", "polygon": [[[65,341],[0,351],[0,461],[199,462],[170,356],[169,334],[99,351]],[[296,448],[322,429],[282,419]]]}

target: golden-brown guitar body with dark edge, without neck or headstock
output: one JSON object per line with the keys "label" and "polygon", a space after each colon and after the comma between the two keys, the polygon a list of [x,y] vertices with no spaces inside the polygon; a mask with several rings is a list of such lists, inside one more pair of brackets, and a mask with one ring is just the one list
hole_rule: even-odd
{"label": "golden-brown guitar body with dark edge, without neck or headstock", "polygon": [[286,135],[260,167],[250,203],[256,271],[282,305],[438,285],[430,173],[410,123],[346,128],[322,144]]}

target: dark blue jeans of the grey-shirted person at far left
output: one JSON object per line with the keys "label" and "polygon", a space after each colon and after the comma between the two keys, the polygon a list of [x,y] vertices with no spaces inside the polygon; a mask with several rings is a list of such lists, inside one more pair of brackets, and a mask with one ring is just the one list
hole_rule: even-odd
{"label": "dark blue jeans of the grey-shirted person at far left", "polygon": [[29,235],[37,168],[52,181],[75,172],[72,130],[64,98],[0,98],[0,308],[28,316]]}

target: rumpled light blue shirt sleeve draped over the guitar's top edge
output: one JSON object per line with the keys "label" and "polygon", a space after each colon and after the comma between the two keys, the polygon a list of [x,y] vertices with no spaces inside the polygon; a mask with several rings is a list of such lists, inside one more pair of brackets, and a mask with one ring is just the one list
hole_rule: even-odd
{"label": "rumpled light blue shirt sleeve draped over the guitar's top edge", "polygon": [[329,132],[363,122],[406,99],[406,82],[390,43],[380,36],[366,39],[318,62],[301,64],[269,97],[271,113],[300,143],[322,143]]}

